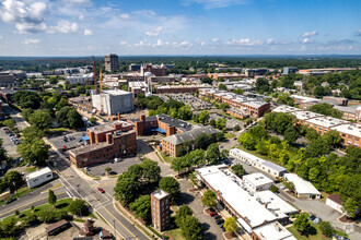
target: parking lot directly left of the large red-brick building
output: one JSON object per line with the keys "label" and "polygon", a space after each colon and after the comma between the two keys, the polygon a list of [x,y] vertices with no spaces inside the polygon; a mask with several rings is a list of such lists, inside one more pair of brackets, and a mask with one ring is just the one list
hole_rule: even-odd
{"label": "parking lot directly left of the large red-brick building", "polygon": [[71,149],[78,146],[85,145],[85,142],[81,140],[81,137],[85,135],[86,132],[75,132],[51,137],[49,139],[49,142],[59,151],[62,148]]}

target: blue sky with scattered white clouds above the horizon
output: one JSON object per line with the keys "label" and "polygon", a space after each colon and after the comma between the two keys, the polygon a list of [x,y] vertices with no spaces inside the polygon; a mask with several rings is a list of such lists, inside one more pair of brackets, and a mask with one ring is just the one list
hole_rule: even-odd
{"label": "blue sky with scattered white clouds above the horizon", "polygon": [[0,56],[360,55],[360,0],[0,0]]}

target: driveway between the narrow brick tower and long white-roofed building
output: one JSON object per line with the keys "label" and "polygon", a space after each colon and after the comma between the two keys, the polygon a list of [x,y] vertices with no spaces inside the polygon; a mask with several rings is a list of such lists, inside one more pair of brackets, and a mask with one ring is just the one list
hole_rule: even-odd
{"label": "driveway between the narrow brick tower and long white-roofed building", "polygon": [[203,213],[203,205],[201,203],[201,195],[199,191],[194,193],[188,193],[187,190],[191,189],[189,181],[187,179],[178,180],[180,184],[180,204],[187,204],[194,216],[200,221],[205,230],[203,239],[223,239],[223,232],[221,228],[216,224],[214,219],[209,215]]}

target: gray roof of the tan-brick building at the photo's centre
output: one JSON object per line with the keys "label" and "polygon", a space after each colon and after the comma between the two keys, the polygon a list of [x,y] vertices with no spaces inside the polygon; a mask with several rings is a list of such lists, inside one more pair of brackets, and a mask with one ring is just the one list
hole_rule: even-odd
{"label": "gray roof of the tan-brick building at the photo's centre", "polygon": [[178,134],[174,134],[174,135],[164,137],[163,140],[173,145],[179,145],[186,141],[195,141],[197,139],[197,136],[199,136],[201,133],[206,133],[207,135],[209,135],[209,134],[214,134],[217,132],[219,132],[219,130],[213,129],[210,125],[195,127],[193,130],[189,130],[188,132],[182,132]]}

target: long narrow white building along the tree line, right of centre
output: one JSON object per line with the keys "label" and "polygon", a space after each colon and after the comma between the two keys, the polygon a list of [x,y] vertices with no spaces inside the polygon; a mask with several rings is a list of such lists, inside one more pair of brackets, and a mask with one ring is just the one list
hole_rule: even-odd
{"label": "long narrow white building along the tree line, right of centre", "polygon": [[287,169],[281,166],[264,160],[238,148],[230,149],[230,156],[235,157],[236,159],[242,160],[247,165],[254,166],[273,177],[282,177],[283,173],[287,172]]}

